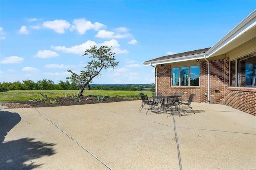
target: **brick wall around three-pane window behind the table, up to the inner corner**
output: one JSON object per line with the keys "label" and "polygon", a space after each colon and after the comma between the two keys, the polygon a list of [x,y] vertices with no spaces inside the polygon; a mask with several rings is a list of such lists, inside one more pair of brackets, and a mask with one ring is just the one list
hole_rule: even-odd
{"label": "brick wall around three-pane window behind the table, up to the inner corner", "polygon": [[[211,61],[210,67],[210,102],[215,104],[224,104],[224,60]],[[183,99],[189,98],[191,93],[196,94],[193,101],[207,103],[208,96],[208,66],[207,62],[200,62],[200,87],[177,87],[171,86],[171,66],[161,66],[157,68],[157,92],[163,95],[174,95],[175,92],[184,93]],[[216,72],[216,73],[215,73]],[[220,91],[215,91],[218,88]]]}

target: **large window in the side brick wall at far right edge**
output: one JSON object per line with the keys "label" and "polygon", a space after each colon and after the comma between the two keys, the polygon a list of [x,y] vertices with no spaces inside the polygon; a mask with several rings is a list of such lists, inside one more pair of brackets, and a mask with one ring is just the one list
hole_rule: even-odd
{"label": "large window in the side brick wall at far right edge", "polygon": [[231,87],[256,87],[256,53],[230,61]]}

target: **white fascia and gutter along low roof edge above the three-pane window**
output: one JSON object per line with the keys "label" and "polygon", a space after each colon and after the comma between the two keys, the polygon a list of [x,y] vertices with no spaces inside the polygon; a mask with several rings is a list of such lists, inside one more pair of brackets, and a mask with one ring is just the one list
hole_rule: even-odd
{"label": "white fascia and gutter along low roof edge above the three-pane window", "polygon": [[150,66],[150,65],[159,65],[159,64],[166,64],[166,63],[176,63],[181,61],[189,61],[189,60],[197,60],[197,59],[204,59],[205,53],[195,54],[195,55],[187,55],[183,57],[176,57],[176,58],[170,58],[170,59],[163,59],[158,61],[148,61],[144,62],[144,66]]}

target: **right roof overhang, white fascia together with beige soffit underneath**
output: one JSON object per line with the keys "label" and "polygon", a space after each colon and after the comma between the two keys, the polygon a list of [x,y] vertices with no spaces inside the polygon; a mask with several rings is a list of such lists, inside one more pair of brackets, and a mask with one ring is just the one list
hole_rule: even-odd
{"label": "right roof overhang, white fascia together with beige soffit underneath", "polygon": [[256,38],[256,10],[206,51],[206,56],[208,58],[228,53],[254,38]]}

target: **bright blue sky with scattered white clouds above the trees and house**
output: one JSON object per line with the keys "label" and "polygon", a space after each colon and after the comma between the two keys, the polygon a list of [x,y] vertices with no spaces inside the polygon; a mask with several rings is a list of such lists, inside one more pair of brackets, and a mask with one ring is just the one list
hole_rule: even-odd
{"label": "bright blue sky with scattered white clouds above the trees and house", "polygon": [[66,81],[90,46],[113,46],[118,67],[93,84],[154,83],[143,62],[212,47],[255,1],[0,1],[0,82]]}

